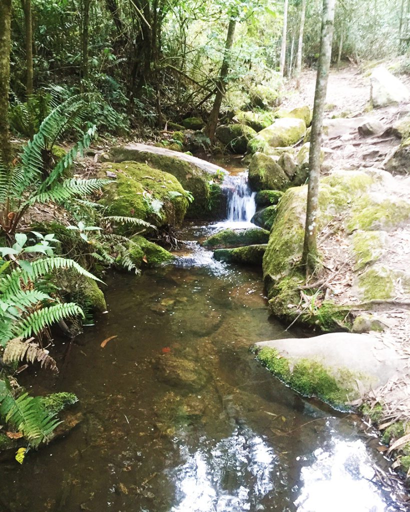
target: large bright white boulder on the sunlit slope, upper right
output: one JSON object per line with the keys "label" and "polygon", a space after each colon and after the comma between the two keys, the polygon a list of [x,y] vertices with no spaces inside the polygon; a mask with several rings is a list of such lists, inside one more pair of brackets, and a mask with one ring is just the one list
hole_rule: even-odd
{"label": "large bright white boulder on the sunlit slope, upper right", "polygon": [[378,66],[370,76],[371,100],[375,108],[408,101],[410,91],[383,66]]}

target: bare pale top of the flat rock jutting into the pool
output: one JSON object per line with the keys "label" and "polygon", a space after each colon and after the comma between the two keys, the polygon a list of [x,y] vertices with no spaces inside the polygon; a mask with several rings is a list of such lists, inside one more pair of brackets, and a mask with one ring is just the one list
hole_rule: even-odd
{"label": "bare pale top of the flat rock jutting into the pool", "polygon": [[[320,362],[329,373],[348,369],[365,377],[366,387],[384,386],[406,362],[398,353],[371,334],[336,332],[312,338],[285,338],[259,342],[257,347],[276,349],[291,362],[311,359]],[[368,389],[365,389],[368,391]]]}

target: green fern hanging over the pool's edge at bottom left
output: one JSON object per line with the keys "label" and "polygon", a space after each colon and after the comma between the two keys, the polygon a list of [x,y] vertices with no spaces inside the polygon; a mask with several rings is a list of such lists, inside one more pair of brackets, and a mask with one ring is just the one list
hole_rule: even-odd
{"label": "green fern hanging over the pool's edge at bottom left", "polygon": [[61,423],[45,409],[40,397],[23,393],[15,398],[10,385],[3,380],[0,380],[0,416],[22,432],[33,447],[48,442]]}

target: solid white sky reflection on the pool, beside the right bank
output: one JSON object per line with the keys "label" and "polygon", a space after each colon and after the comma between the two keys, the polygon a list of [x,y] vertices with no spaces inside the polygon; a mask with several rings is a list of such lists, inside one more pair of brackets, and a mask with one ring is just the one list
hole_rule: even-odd
{"label": "solid white sky reflection on the pool, beside the right bank", "polygon": [[297,511],[384,512],[386,503],[371,481],[374,470],[364,443],[334,438],[330,444],[318,448],[313,463],[301,469]]}

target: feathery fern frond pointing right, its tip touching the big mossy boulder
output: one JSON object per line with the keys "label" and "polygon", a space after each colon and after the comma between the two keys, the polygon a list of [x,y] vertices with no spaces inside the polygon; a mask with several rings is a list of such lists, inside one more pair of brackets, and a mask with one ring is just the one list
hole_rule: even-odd
{"label": "feathery fern frond pointing right, its tip touching the big mossy boulder", "polygon": [[33,205],[34,203],[48,203],[51,201],[61,203],[74,196],[87,196],[92,194],[108,183],[111,183],[111,180],[70,178],[64,180],[61,184],[55,185],[50,190],[32,196],[27,201],[27,204]]}

